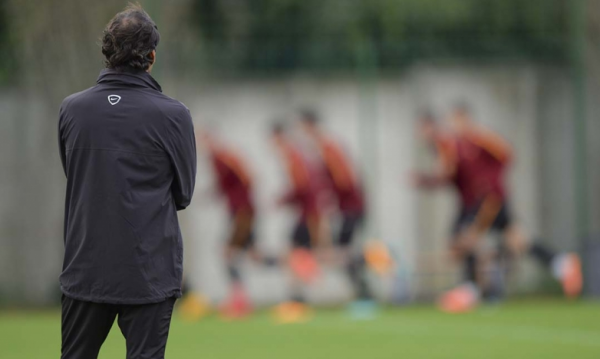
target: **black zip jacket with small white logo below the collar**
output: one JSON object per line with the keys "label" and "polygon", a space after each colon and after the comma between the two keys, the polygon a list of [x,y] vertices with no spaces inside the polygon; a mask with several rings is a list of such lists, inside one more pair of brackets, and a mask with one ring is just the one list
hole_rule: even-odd
{"label": "black zip jacket with small white logo below the collar", "polygon": [[176,211],[190,204],[196,176],[189,110],[146,72],[103,70],[96,86],[63,101],[59,145],[63,293],[112,304],[180,297]]}

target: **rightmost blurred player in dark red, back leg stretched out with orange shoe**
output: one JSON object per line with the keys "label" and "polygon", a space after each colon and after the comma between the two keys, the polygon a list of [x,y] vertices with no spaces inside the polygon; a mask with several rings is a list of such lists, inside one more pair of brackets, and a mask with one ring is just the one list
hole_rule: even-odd
{"label": "rightmost blurred player in dark red, back leg stretched out with orange shoe", "polygon": [[[467,166],[478,186],[477,206],[471,210],[457,242],[458,251],[472,251],[481,237],[489,230],[498,231],[504,246],[513,257],[529,254],[548,268],[560,281],[565,295],[577,297],[583,286],[581,263],[574,253],[555,253],[538,241],[531,241],[522,227],[516,223],[507,204],[505,169],[511,159],[510,145],[499,135],[471,119],[464,104],[456,106],[450,119],[456,137],[458,158]],[[462,309],[457,303],[464,297],[461,289],[450,291],[441,298],[442,308]]]}

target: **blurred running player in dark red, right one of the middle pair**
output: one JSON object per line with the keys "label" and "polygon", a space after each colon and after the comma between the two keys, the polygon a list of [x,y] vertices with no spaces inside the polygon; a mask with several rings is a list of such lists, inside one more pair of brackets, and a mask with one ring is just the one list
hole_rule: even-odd
{"label": "blurred running player in dark red, right one of the middle pair", "polygon": [[341,217],[342,223],[335,236],[335,246],[346,266],[346,273],[354,287],[355,295],[360,301],[370,301],[372,296],[364,277],[365,260],[362,255],[355,256],[352,251],[356,231],[365,217],[365,198],[360,178],[342,147],[323,131],[320,118],[315,112],[301,111],[300,121],[318,149],[328,190],[333,194],[337,212]]}

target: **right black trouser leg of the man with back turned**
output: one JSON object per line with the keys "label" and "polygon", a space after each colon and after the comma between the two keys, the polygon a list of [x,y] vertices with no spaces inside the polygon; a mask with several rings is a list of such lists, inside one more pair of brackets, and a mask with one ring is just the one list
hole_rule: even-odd
{"label": "right black trouser leg of the man with back turned", "polygon": [[165,357],[175,300],[119,306],[118,323],[125,337],[127,359]]}

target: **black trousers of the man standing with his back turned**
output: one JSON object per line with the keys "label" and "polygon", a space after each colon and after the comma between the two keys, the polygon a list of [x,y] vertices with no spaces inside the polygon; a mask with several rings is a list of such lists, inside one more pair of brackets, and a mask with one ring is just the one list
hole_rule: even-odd
{"label": "black trousers of the man standing with his back turned", "polygon": [[96,359],[117,319],[127,359],[165,357],[175,298],[143,305],[116,305],[62,298],[61,359]]}

